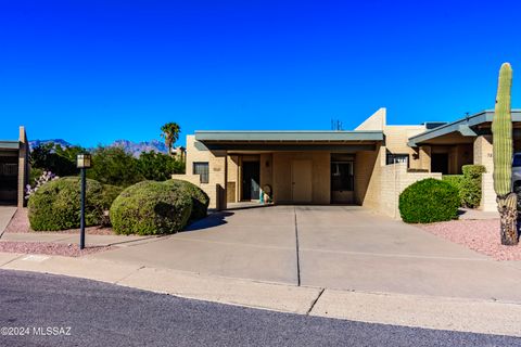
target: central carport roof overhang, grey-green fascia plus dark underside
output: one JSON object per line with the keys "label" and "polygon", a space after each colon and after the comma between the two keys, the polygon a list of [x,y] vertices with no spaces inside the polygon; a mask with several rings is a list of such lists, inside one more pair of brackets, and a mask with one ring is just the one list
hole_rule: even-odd
{"label": "central carport roof overhang, grey-green fascia plus dark underside", "polygon": [[195,131],[207,150],[373,151],[382,131]]}

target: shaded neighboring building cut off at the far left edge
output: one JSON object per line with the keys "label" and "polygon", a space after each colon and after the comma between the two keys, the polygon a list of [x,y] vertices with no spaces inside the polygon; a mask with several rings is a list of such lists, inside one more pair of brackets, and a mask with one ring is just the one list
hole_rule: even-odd
{"label": "shaded neighboring building cut off at the far left edge", "polygon": [[28,182],[29,145],[25,128],[20,127],[17,141],[0,141],[0,204],[25,204],[25,185]]}

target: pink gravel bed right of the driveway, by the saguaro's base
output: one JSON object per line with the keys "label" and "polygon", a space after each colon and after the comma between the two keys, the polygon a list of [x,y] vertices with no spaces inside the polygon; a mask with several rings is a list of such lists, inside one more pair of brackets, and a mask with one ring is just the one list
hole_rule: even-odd
{"label": "pink gravel bed right of the driveway, by the saguaro's base", "polygon": [[499,219],[452,220],[423,224],[420,228],[496,260],[521,260],[521,244],[501,245]]}

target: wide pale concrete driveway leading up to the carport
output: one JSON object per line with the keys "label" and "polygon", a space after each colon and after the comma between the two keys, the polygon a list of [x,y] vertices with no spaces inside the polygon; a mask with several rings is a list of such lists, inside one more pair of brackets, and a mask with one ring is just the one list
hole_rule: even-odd
{"label": "wide pale concrete driveway leading up to the carport", "polygon": [[295,285],[521,303],[521,269],[355,206],[238,209],[89,257]]}

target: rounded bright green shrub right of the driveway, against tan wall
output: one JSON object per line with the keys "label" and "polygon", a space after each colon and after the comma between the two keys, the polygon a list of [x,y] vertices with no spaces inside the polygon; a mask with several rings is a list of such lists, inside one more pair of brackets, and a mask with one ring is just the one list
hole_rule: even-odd
{"label": "rounded bright green shrub right of the driveway, against tan wall", "polygon": [[428,178],[399,194],[399,215],[407,223],[430,223],[458,216],[459,192],[450,183]]}

